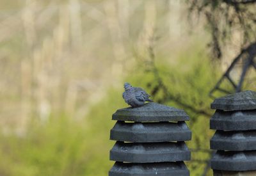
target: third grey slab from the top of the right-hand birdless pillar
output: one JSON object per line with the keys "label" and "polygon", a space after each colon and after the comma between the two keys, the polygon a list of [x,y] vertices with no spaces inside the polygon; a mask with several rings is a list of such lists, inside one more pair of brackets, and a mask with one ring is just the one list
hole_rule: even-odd
{"label": "third grey slab from the top of the right-hand birdless pillar", "polygon": [[216,131],[210,144],[214,150],[256,150],[256,131]]}

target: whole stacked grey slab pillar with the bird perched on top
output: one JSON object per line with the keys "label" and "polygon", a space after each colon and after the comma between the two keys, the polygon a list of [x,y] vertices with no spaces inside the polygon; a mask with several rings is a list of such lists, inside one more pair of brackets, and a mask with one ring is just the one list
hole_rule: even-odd
{"label": "whole stacked grey slab pillar with the bird perched on top", "polygon": [[191,153],[185,111],[149,102],[138,108],[118,109],[110,132],[116,143],[110,159],[116,161],[109,176],[189,175],[184,161]]}

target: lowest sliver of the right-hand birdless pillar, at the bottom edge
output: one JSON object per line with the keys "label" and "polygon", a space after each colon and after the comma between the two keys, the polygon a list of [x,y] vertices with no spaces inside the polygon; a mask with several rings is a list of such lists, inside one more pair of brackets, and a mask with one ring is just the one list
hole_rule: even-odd
{"label": "lowest sliver of the right-hand birdless pillar, at the bottom edge", "polygon": [[253,171],[223,171],[223,170],[214,170],[213,176],[255,176],[256,170]]}

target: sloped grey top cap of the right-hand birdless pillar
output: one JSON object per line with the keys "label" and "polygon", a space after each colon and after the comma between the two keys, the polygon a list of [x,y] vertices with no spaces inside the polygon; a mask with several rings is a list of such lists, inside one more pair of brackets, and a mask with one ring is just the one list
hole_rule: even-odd
{"label": "sloped grey top cap of the right-hand birdless pillar", "polygon": [[212,102],[211,108],[227,111],[256,109],[256,92],[247,90],[220,97]]}

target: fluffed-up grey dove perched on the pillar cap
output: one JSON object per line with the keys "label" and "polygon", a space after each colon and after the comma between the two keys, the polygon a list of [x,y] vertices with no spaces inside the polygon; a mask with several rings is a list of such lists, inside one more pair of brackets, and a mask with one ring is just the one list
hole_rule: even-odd
{"label": "fluffed-up grey dove perched on the pillar cap", "polygon": [[124,83],[124,89],[123,98],[125,102],[133,108],[142,106],[145,101],[152,102],[152,100],[149,99],[150,95],[142,88],[135,88],[129,83]]}

